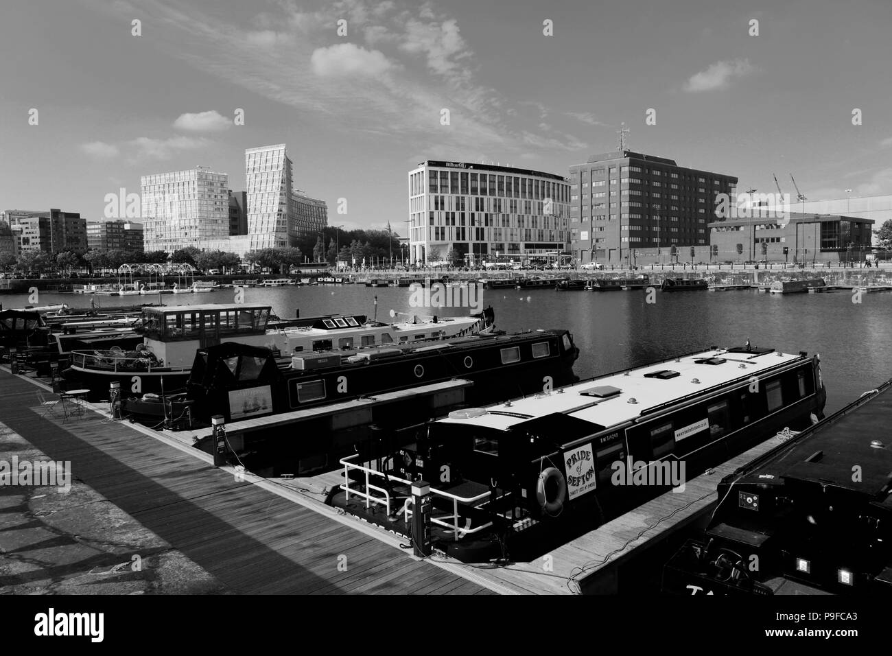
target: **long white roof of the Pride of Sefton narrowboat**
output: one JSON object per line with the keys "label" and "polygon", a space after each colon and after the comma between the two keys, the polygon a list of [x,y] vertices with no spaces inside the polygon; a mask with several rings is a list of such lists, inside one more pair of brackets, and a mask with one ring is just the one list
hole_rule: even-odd
{"label": "long white roof of the Pride of Sefton narrowboat", "polygon": [[[717,349],[690,353],[648,364],[626,372],[591,378],[552,392],[535,394],[485,408],[486,413],[468,419],[449,417],[443,423],[475,425],[508,430],[530,419],[562,414],[594,425],[592,432],[638,419],[657,406],[673,403],[714,386],[746,381],[780,364],[801,360],[773,349]],[[660,371],[677,372],[671,378],[648,376]],[[697,379],[699,382],[693,382]],[[636,403],[630,403],[634,399]],[[474,414],[474,413],[472,413]]]}

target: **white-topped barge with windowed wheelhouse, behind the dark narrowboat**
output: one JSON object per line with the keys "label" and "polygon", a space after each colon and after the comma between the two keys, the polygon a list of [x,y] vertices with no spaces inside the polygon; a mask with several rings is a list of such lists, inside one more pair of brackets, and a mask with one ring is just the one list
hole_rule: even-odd
{"label": "white-topped barge with windowed wheelhouse, behind the dark narrowboat", "polygon": [[112,382],[125,392],[160,394],[163,385],[170,393],[186,387],[196,350],[224,341],[285,355],[347,350],[474,334],[491,330],[495,316],[488,308],[467,317],[413,317],[385,324],[363,315],[335,315],[310,326],[268,329],[271,310],[269,305],[237,303],[146,307],[141,325],[134,328],[140,335],[133,333],[136,340],[127,345],[117,344],[126,352],[101,350],[109,348],[101,345],[79,347],[62,378],[69,389],[91,390],[88,401],[106,399]]}

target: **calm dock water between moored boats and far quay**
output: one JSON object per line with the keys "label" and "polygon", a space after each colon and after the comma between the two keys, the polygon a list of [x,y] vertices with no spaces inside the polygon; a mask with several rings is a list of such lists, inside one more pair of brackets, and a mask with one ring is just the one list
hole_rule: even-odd
{"label": "calm dock water between moored boats and far quay", "polygon": [[[301,286],[249,288],[245,303],[272,305],[280,317],[351,312],[391,320],[390,311],[455,316],[462,308],[438,311],[412,308],[406,287]],[[40,304],[87,307],[88,295],[41,294]],[[158,296],[96,296],[103,307],[157,303]],[[210,294],[164,295],[174,303],[231,303],[233,290]],[[767,295],[754,291],[657,292],[645,303],[644,292],[556,292],[484,290],[483,307],[496,311],[499,328],[568,328],[582,353],[575,371],[582,378],[647,364],[711,345],[771,346],[787,353],[819,353],[828,390],[827,410],[835,411],[864,391],[892,378],[892,294],[862,296],[852,303],[847,292]],[[4,308],[28,303],[25,295],[0,296]]]}

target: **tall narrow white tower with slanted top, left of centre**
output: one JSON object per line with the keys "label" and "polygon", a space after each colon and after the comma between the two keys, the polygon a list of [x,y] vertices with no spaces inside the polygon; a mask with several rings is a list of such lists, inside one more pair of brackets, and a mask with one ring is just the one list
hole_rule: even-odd
{"label": "tall narrow white tower with slanted top, left of centre", "polygon": [[291,168],[285,144],[244,151],[250,250],[296,245],[296,238],[289,235],[293,221]]}

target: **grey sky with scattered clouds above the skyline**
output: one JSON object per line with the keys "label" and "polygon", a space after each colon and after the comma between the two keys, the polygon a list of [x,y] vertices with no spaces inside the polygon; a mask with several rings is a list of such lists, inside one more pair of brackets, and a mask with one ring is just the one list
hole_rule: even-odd
{"label": "grey sky with scattered clouds above the skyline", "polygon": [[330,225],[400,232],[419,162],[566,176],[622,122],[739,191],[892,194],[890,27],[889,0],[4,0],[0,209],[102,220],[196,165],[243,190],[285,143]]}

